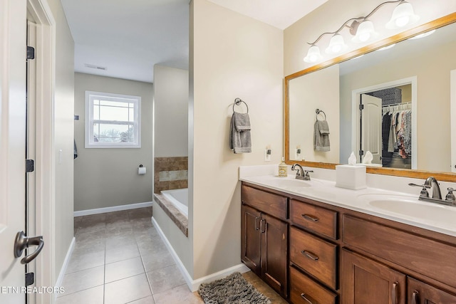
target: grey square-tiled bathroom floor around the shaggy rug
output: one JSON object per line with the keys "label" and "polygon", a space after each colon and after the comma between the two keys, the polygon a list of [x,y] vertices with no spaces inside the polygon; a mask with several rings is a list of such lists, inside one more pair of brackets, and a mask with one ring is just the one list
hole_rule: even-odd
{"label": "grey square-tiled bathroom floor around the shaggy rug", "polygon": [[[188,289],[151,216],[152,208],[142,208],[76,217],[76,245],[57,304],[203,303]],[[286,303],[253,273],[244,277],[272,303]]]}

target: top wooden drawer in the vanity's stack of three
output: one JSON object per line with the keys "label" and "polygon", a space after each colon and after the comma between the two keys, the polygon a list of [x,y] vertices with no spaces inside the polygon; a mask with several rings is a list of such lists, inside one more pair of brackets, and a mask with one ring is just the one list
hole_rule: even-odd
{"label": "top wooden drawer in the vanity's stack of three", "polygon": [[304,203],[304,201],[290,201],[291,223],[296,226],[305,227],[313,231],[328,236],[332,239],[337,238],[337,212]]}

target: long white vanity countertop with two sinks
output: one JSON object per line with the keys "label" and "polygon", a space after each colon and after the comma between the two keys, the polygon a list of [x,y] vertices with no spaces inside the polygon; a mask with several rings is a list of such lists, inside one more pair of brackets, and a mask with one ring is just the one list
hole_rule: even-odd
{"label": "long white vanity countertop with two sinks", "polygon": [[[295,179],[294,176],[261,175],[241,177],[240,180],[333,206],[379,216],[383,219],[456,236],[456,206],[419,201],[419,192],[412,196],[403,192],[370,187],[355,191],[338,188],[336,182],[328,180],[302,181]],[[442,192],[442,196],[445,197],[445,193]]]}

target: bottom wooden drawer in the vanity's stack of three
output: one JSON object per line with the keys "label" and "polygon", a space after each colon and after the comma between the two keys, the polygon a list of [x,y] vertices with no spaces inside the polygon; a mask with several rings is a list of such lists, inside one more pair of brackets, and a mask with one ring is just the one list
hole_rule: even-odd
{"label": "bottom wooden drawer in the vanity's stack of three", "polygon": [[337,295],[290,267],[290,300],[294,304],[336,304]]}

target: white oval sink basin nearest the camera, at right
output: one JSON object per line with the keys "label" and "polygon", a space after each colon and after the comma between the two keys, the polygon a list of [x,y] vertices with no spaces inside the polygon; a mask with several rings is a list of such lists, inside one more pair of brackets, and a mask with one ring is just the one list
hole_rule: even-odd
{"label": "white oval sink basin nearest the camera, at right", "polygon": [[388,213],[411,216],[419,219],[438,219],[439,221],[454,221],[456,208],[418,200],[418,196],[364,194],[358,196],[375,209]]}

